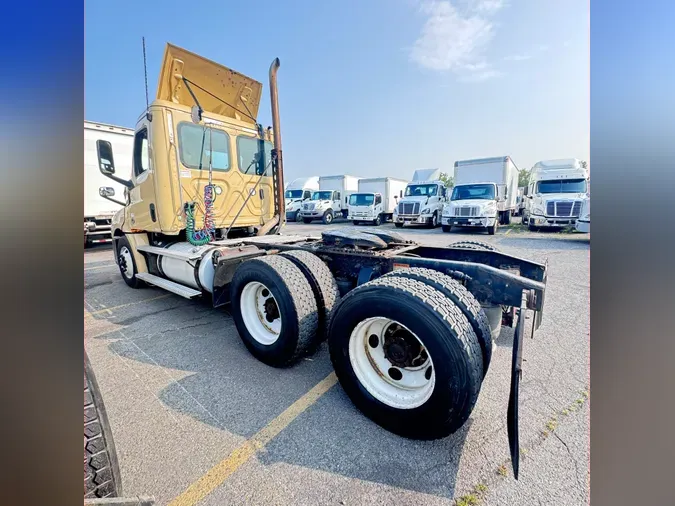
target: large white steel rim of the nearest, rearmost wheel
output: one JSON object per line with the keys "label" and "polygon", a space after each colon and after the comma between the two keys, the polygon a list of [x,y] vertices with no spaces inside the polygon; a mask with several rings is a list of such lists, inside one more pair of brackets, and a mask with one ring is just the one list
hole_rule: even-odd
{"label": "large white steel rim of the nearest, rearmost wheel", "polygon": [[[422,364],[401,367],[385,355],[387,330],[398,325],[409,332],[426,353]],[[377,344],[372,336],[377,336]],[[397,409],[413,409],[429,400],[436,384],[436,370],[422,341],[405,325],[384,317],[368,318],[360,322],[349,337],[349,361],[363,387],[378,401]],[[391,369],[400,373],[394,379]],[[396,373],[398,375],[398,373]]]}

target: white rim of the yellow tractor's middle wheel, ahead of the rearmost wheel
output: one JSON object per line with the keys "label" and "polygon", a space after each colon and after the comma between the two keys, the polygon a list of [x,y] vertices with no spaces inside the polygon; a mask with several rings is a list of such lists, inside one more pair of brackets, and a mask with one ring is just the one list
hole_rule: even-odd
{"label": "white rim of the yellow tractor's middle wheel, ahead of the rearmost wheel", "polygon": [[279,339],[281,333],[279,304],[269,288],[258,281],[251,281],[241,291],[239,306],[241,318],[253,339],[266,346],[274,344]]}

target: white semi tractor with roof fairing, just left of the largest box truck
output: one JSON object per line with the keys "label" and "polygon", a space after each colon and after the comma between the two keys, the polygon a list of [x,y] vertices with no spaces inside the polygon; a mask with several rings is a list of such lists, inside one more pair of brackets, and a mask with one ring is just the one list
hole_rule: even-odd
{"label": "white semi tractor with roof fairing, just left of the largest box truck", "polygon": [[440,180],[440,169],[417,169],[406,186],[403,198],[394,208],[394,224],[426,225],[436,228],[440,224],[443,204],[446,202],[445,183]]}

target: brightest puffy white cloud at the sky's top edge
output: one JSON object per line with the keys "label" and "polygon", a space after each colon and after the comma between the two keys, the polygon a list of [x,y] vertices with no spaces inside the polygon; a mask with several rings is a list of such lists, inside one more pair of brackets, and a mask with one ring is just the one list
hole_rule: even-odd
{"label": "brightest puffy white cloud at the sky's top edge", "polygon": [[500,75],[485,61],[484,52],[495,33],[489,15],[503,6],[503,0],[469,0],[460,12],[449,1],[422,2],[420,10],[427,20],[410,50],[411,61],[474,82]]}

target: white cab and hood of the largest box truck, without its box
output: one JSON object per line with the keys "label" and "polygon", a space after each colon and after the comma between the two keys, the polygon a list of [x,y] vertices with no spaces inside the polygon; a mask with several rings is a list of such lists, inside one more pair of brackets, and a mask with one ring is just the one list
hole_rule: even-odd
{"label": "white cab and hood of the largest box truck, without its box", "polygon": [[500,193],[496,183],[455,186],[450,202],[443,207],[443,232],[450,232],[453,226],[477,227],[494,235],[499,226],[498,202],[503,200]]}

